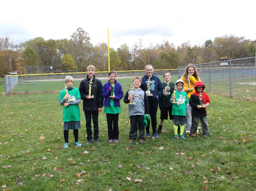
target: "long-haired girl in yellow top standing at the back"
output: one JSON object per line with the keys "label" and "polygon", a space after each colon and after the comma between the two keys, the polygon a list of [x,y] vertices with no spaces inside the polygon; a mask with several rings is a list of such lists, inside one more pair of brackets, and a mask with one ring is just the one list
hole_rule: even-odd
{"label": "long-haired girl in yellow top standing at the back", "polygon": [[[188,88],[188,74],[190,74],[190,89]],[[191,94],[195,92],[195,83],[201,81],[199,75],[197,73],[196,67],[193,64],[189,64],[180,78],[184,82],[185,89],[184,91],[188,94],[188,99],[190,98]],[[190,133],[191,129],[191,112],[192,108],[189,106],[189,114],[187,115],[187,123],[185,123],[185,131],[186,133]]]}

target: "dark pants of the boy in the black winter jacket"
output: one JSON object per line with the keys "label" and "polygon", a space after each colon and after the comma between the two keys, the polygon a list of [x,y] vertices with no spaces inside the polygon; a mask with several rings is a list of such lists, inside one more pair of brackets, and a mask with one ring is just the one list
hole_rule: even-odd
{"label": "dark pants of the boy in the black winter jacket", "polygon": [[98,111],[84,111],[84,116],[86,120],[86,132],[87,132],[87,139],[92,139],[92,126],[91,123],[93,122],[93,139],[99,139],[99,113]]}

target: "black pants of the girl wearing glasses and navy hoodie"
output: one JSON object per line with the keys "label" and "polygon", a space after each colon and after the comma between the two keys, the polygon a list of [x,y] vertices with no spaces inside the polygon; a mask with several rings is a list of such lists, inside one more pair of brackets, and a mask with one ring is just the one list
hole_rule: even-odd
{"label": "black pants of the girl wearing glasses and navy hoodie", "polygon": [[[152,131],[153,131],[153,133],[155,133],[156,132],[156,113],[158,110],[158,101],[148,100],[148,104],[149,104],[149,114],[151,117]],[[149,133],[149,126],[150,126],[150,121],[147,122],[146,133]]]}

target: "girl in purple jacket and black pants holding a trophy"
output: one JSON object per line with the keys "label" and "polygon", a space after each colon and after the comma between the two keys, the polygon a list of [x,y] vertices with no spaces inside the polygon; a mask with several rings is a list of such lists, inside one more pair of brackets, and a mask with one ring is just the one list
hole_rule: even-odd
{"label": "girl in purple jacket and black pants holding a trophy", "polygon": [[[120,99],[123,98],[124,93],[120,83],[116,81],[116,72],[110,71],[108,75],[109,81],[102,87],[101,96],[104,100],[104,113],[108,122],[108,136],[109,142],[118,142],[119,129],[118,117],[121,112]],[[112,127],[113,126],[113,127]]]}

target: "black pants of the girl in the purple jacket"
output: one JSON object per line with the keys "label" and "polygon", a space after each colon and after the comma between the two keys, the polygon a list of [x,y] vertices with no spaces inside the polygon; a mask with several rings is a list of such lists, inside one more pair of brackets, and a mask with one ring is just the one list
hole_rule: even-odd
{"label": "black pants of the girl in the purple jacket", "polygon": [[[108,122],[108,133],[109,133],[109,140],[110,139],[118,139],[119,136],[119,129],[118,129],[118,114],[107,114],[107,122]],[[113,124],[113,128],[112,128]]]}

